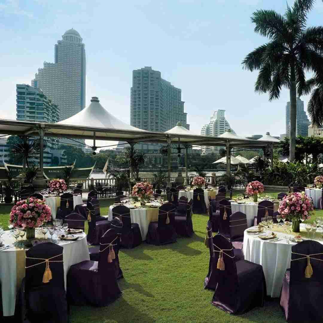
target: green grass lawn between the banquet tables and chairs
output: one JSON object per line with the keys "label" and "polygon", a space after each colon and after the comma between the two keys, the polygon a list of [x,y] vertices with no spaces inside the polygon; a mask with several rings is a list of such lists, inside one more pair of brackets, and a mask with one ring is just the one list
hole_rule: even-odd
{"label": "green grass lawn between the banquet tables and chairs", "polygon": [[[111,202],[100,204],[101,214],[106,215]],[[0,205],[0,223],[7,224],[9,211],[9,206]],[[322,211],[315,214],[323,216]],[[164,246],[144,242],[134,249],[121,249],[124,278],[118,282],[123,295],[107,307],[72,306],[70,322],[285,322],[277,299],[239,316],[211,305],[213,292],[203,289],[209,262],[204,245],[207,220],[206,215],[193,215],[192,238],[178,238],[177,243]]]}

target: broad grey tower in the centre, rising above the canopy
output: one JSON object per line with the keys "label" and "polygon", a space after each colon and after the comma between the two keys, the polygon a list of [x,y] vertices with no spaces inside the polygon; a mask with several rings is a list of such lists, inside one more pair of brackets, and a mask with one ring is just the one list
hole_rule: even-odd
{"label": "broad grey tower in the centre, rising above the canopy", "polygon": [[178,121],[186,123],[182,90],[161,78],[150,66],[132,71],[130,89],[130,124],[149,131],[167,131]]}

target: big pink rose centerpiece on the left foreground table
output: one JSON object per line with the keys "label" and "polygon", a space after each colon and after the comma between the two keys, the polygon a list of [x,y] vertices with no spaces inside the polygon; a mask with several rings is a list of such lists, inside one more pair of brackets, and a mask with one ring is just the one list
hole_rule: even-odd
{"label": "big pink rose centerpiece on the left foreground table", "polygon": [[14,228],[26,228],[26,238],[35,238],[35,228],[52,219],[52,211],[44,200],[28,197],[13,206],[10,212],[10,223]]}

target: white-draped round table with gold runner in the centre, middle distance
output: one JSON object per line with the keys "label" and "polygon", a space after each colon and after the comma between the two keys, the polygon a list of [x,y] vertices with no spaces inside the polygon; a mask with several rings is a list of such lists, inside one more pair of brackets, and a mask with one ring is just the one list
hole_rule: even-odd
{"label": "white-draped round table with gold runner in the centre, middle distance", "polygon": [[[112,209],[115,205],[110,205],[108,220],[112,221]],[[146,240],[148,227],[151,221],[158,221],[158,207],[130,209],[131,223],[138,223],[142,241]]]}

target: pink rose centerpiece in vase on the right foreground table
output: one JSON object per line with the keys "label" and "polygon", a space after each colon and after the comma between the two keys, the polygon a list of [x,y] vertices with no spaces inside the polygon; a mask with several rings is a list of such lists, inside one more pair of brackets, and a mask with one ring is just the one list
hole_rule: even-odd
{"label": "pink rose centerpiece in vase on the right foreground table", "polygon": [[311,200],[302,193],[290,193],[279,203],[278,213],[283,219],[292,221],[293,232],[299,232],[299,221],[305,221],[313,213],[313,204]]}

